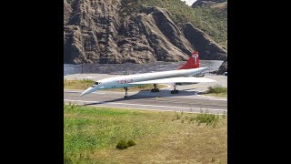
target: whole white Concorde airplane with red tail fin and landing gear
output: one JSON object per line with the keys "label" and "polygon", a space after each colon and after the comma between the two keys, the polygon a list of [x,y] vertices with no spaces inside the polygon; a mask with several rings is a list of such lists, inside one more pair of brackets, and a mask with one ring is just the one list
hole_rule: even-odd
{"label": "whole white Concorde airplane with red tail fin and landing gear", "polygon": [[124,87],[125,98],[127,96],[128,87],[141,86],[146,84],[153,84],[154,88],[152,92],[159,92],[156,84],[172,84],[174,90],[171,90],[171,94],[176,94],[179,91],[176,90],[178,85],[189,85],[196,83],[216,82],[216,80],[203,77],[201,74],[207,67],[200,67],[198,52],[194,51],[192,56],[188,59],[183,67],[177,70],[161,71],[145,74],[135,74],[119,77],[108,77],[99,81],[96,81],[92,87],[87,88],[81,95],[85,96],[89,93],[95,92],[100,89],[111,89],[117,87]]}

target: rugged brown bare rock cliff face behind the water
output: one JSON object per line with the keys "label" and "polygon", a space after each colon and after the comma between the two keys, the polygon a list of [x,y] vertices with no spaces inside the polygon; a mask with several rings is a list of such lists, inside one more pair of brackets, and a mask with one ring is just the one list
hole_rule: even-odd
{"label": "rugged brown bare rock cliff face behind the water", "polygon": [[131,15],[123,10],[120,0],[64,0],[64,62],[181,61],[195,48],[202,59],[225,59],[226,51],[202,31],[179,29],[166,9],[143,6]]}

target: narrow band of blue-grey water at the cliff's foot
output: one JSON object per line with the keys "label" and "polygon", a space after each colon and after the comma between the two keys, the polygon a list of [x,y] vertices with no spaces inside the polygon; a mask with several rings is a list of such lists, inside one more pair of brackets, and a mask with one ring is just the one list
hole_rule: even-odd
{"label": "narrow band of blue-grey water at the cliff's foot", "polygon": [[[200,67],[208,67],[207,71],[217,70],[223,61],[220,60],[200,60]],[[64,75],[70,74],[139,74],[146,72],[175,70],[178,67],[182,67],[186,61],[182,62],[156,62],[146,64],[84,64],[82,65],[69,65],[64,64]]]}

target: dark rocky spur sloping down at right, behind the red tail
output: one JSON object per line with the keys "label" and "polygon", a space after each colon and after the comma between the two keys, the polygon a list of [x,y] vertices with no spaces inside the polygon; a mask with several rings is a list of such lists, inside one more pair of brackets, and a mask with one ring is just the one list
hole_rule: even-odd
{"label": "dark rocky spur sloping down at right, behind the red tail", "polygon": [[222,46],[216,44],[206,33],[192,24],[184,25],[184,36],[198,52],[203,52],[199,53],[201,58],[208,60],[225,60],[227,58],[227,52]]}

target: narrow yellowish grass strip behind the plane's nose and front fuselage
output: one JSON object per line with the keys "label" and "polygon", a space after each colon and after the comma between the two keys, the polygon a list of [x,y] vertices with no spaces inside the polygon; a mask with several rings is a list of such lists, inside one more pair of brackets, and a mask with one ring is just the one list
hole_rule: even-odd
{"label": "narrow yellowish grass strip behind the plane's nose and front fuselage", "polygon": [[[85,90],[88,87],[91,87],[95,83],[94,80],[91,79],[82,79],[82,80],[67,80],[64,79],[64,88],[65,89],[82,89]],[[158,88],[167,87],[166,85],[157,85]],[[139,90],[150,90],[153,88],[153,85],[142,85],[129,87],[128,91],[139,91]],[[115,89],[105,89],[107,91],[118,91],[124,92],[125,89],[123,87],[115,88]]]}

